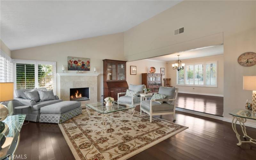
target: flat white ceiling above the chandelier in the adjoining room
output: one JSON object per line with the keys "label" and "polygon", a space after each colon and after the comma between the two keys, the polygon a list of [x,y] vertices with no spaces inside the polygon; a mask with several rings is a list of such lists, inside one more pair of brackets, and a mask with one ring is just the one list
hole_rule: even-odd
{"label": "flat white ceiling above the chandelier in the adjoining room", "polygon": [[150,58],[149,60],[159,60],[159,61],[169,62],[169,61],[177,60],[178,59],[177,55],[180,55],[181,60],[186,60],[191,58],[214,56],[219,54],[224,54],[223,45],[208,46],[208,47],[197,48],[197,49],[184,51],[184,52],[172,53],[165,56]]}

